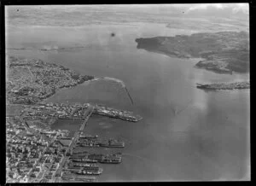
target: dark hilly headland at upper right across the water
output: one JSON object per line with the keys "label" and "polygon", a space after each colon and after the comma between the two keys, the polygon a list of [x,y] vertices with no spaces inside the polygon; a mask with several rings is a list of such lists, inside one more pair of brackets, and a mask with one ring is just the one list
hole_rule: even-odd
{"label": "dark hilly headland at upper right across the water", "polygon": [[249,72],[247,32],[200,32],[175,37],[137,38],[137,49],[179,58],[203,58],[195,67],[215,73]]}

